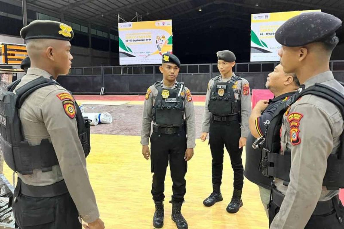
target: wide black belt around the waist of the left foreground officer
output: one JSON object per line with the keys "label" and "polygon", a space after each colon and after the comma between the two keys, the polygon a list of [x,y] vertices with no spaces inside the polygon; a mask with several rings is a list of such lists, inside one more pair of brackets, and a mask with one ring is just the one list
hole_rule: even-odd
{"label": "wide black belt around the waist of the left foreground officer", "polygon": [[64,180],[47,186],[33,186],[25,184],[24,182],[22,182],[21,179],[18,178],[18,184],[16,189],[17,188],[20,189],[20,192],[23,195],[35,198],[54,197],[68,193],[68,188]]}

